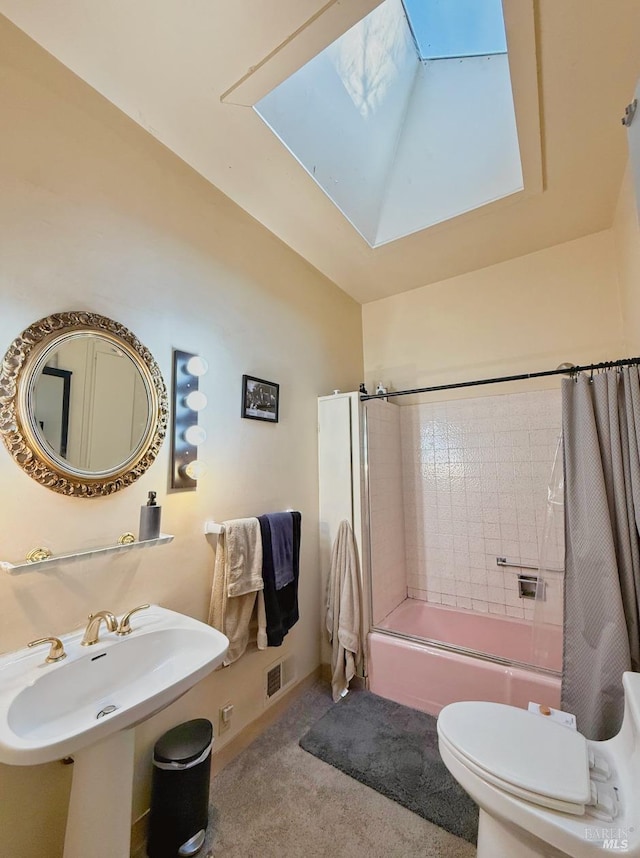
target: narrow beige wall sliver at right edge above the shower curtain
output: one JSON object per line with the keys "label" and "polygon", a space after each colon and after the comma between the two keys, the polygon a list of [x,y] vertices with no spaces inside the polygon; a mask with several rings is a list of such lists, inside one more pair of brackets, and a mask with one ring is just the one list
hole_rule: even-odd
{"label": "narrow beige wall sliver at right edge above the shower curtain", "polygon": [[640,229],[630,164],[622,180],[612,232],[624,336],[631,357],[640,354]]}

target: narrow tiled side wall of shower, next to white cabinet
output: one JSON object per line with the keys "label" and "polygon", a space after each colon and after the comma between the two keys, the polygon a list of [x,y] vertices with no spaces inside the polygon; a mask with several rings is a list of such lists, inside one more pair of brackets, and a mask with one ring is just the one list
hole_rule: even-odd
{"label": "narrow tiled side wall of shower, next to white cabinet", "polygon": [[379,399],[367,403],[371,595],[374,623],[407,598],[401,408]]}

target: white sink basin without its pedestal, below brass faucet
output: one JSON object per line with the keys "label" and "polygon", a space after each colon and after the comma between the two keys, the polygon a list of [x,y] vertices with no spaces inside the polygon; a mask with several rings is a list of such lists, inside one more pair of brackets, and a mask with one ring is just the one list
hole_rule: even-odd
{"label": "white sink basin without its pedestal, below brass faucet", "polygon": [[168,706],[224,659],[216,629],[158,605],[137,613],[130,635],[83,630],[63,635],[67,658],[46,664],[47,648],[0,657],[0,762],[60,759],[140,723]]}

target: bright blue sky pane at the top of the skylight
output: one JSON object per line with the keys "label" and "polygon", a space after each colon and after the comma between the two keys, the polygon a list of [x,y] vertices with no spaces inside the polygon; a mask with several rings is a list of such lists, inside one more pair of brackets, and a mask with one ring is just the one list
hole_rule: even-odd
{"label": "bright blue sky pane at the top of the skylight", "polygon": [[402,0],[422,60],[507,52],[501,0]]}

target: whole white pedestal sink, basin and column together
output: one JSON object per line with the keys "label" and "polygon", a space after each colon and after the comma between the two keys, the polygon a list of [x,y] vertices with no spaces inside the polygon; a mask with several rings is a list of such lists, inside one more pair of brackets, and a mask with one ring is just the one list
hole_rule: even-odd
{"label": "whole white pedestal sink, basin and column together", "polygon": [[46,650],[0,657],[0,762],[29,766],[73,755],[64,858],[129,858],[133,727],[177,700],[222,663],[216,629],[158,605],[136,614],[130,635],[102,632],[67,658]]}

